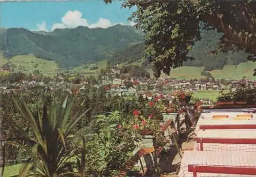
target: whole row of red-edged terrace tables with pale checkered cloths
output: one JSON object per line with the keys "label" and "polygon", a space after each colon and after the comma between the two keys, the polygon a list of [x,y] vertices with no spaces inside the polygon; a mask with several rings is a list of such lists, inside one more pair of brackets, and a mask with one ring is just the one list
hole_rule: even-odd
{"label": "whole row of red-edged terrace tables with pale checkered cloths", "polygon": [[254,108],[205,110],[195,128],[193,150],[183,154],[179,177],[255,176],[254,111]]}

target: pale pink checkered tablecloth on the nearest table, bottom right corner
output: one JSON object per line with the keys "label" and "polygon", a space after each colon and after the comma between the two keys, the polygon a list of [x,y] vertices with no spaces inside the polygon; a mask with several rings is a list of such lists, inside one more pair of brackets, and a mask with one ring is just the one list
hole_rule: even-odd
{"label": "pale pink checkered tablecloth on the nearest table, bottom right corner", "polygon": [[[237,151],[234,153],[233,151],[185,151],[181,161],[179,177],[193,177],[193,172],[188,172],[188,164],[238,167],[243,166],[256,168],[256,152]],[[197,176],[252,177],[255,175],[197,173]]]}

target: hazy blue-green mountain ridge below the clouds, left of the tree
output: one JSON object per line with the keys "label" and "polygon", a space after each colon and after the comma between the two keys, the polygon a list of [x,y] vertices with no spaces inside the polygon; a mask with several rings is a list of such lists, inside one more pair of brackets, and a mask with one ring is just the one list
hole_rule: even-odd
{"label": "hazy blue-green mountain ridge below the clouds, left of the tree", "polygon": [[0,51],[5,58],[33,54],[55,61],[59,67],[73,68],[110,58],[143,40],[140,31],[122,25],[106,29],[79,26],[53,32],[10,28],[0,30]]}

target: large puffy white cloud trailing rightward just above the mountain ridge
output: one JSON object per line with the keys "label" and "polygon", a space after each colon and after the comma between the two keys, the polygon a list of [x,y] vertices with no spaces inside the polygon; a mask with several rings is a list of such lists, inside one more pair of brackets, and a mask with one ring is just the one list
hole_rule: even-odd
{"label": "large puffy white cloud trailing rightward just above the mountain ridge", "polygon": [[109,19],[105,18],[99,18],[98,21],[94,24],[89,24],[88,20],[86,18],[82,17],[82,13],[80,11],[68,11],[62,18],[61,23],[53,24],[52,31],[59,28],[76,28],[78,26],[88,27],[88,28],[109,28],[114,25],[131,25],[134,26],[133,22],[130,22],[129,24],[124,23],[111,23]]}

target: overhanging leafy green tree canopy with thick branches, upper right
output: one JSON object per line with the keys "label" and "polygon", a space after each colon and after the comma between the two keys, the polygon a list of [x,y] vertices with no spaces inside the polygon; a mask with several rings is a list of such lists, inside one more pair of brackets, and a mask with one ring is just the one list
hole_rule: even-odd
{"label": "overhanging leafy green tree canopy with thick branches, upper right", "polygon": [[[111,3],[111,0],[104,0]],[[193,58],[187,55],[200,36],[200,21],[204,29],[222,32],[216,51],[248,53],[256,61],[256,1],[210,0],[125,0],[123,7],[136,6],[130,20],[145,33],[144,57],[154,65],[155,76],[161,71],[181,67]],[[256,74],[256,70],[254,70]]]}

